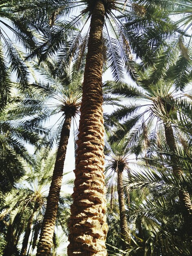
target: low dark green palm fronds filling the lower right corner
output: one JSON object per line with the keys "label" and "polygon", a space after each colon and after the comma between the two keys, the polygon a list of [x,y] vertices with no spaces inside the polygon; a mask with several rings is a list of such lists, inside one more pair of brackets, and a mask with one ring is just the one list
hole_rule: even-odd
{"label": "low dark green palm fronds filling the lower right corner", "polygon": [[[166,150],[168,152],[168,147]],[[163,151],[165,153],[165,150]],[[157,152],[162,153],[161,150]],[[132,172],[131,180],[127,181],[130,190],[147,189],[150,191],[150,194],[145,195],[142,201],[133,202],[127,211],[132,225],[136,219],[140,219],[147,223],[148,229],[146,233],[142,227],[143,237],[139,234],[133,237],[135,243],[130,247],[133,255],[143,255],[143,252],[146,255],[191,254],[191,237],[188,232],[190,227],[188,223],[185,223],[185,209],[178,201],[178,190],[183,186],[187,188],[190,195],[192,193],[189,172],[191,151],[186,154],[179,147],[177,155],[178,166],[186,171],[186,176],[182,181],[170,173],[172,163],[168,154],[163,160],[159,155],[152,157],[148,166],[142,164],[143,170]]]}

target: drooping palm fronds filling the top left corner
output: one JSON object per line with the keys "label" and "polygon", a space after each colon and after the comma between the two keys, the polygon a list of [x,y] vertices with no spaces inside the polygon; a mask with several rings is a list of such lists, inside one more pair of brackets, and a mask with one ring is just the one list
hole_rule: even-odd
{"label": "drooping palm fronds filling the top left corner", "polygon": [[0,2],[0,108],[6,105],[14,86],[10,81],[11,75],[16,77],[22,90],[29,84],[29,74],[34,75],[26,54],[51,34],[47,21],[57,6],[56,2],[60,1],[54,1],[54,4],[50,0]]}

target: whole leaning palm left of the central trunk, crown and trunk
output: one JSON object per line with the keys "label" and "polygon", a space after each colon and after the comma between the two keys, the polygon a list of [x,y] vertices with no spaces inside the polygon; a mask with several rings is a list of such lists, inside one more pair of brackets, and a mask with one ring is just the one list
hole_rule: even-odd
{"label": "whole leaning palm left of the central trunk, crown and trunk", "polygon": [[[41,64],[40,66],[36,66],[40,74],[45,76],[48,83],[44,84],[39,82],[38,85],[31,85],[31,95],[26,99],[18,99],[20,106],[14,109],[14,111],[20,113],[20,115],[25,113],[25,115],[30,116],[31,120],[29,123],[31,125],[40,124],[50,117],[58,119],[58,122],[49,129],[47,141],[44,141],[46,151],[48,151],[55,142],[60,140],[52,177],[52,185],[49,190],[47,208],[41,228],[38,253],[40,249],[45,247],[49,252],[51,251],[70,126],[72,118],[73,124],[76,124],[75,117],[79,112],[82,95],[82,69],[74,71],[73,67],[71,67],[70,69],[72,71],[69,70],[67,73],[66,70],[66,74],[58,78],[55,76],[55,66],[53,63],[49,62],[49,68],[51,67],[53,75],[50,74],[47,65]],[[110,97],[107,93],[104,99],[107,104],[115,104],[118,100],[117,97]],[[46,245],[45,236],[47,238]],[[49,245],[47,245],[47,243],[49,243]]]}

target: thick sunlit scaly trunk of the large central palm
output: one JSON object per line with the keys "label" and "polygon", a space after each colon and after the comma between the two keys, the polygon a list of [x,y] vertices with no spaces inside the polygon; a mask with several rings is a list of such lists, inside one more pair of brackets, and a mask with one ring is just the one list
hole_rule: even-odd
{"label": "thick sunlit scaly trunk of the large central palm", "polygon": [[103,1],[95,1],[90,24],[83,81],[83,98],[73,204],[69,222],[68,256],[106,256],[107,235],[103,127]]}

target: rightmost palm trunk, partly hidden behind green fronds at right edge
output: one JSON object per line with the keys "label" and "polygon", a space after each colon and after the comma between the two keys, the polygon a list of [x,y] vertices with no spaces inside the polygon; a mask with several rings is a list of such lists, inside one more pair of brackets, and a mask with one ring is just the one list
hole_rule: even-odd
{"label": "rightmost palm trunk, partly hidden behind green fronds at right edge", "polygon": [[[167,142],[167,146],[170,150],[174,153],[176,152],[176,144],[173,134],[173,129],[171,125],[164,124],[165,127],[165,138]],[[171,155],[171,162],[176,163],[176,157]],[[183,171],[176,165],[172,165],[173,174],[178,177],[182,177]],[[184,191],[183,189],[179,190],[179,200],[183,207],[185,207],[185,222],[187,229],[189,229],[190,235],[192,235],[192,202],[190,199],[190,195],[188,192]]]}

